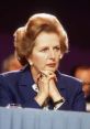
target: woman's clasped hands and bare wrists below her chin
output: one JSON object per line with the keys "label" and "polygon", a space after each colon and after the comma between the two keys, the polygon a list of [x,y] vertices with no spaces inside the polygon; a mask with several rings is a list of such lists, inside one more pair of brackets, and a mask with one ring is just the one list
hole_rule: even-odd
{"label": "woman's clasped hands and bare wrists below her chin", "polygon": [[43,106],[47,98],[52,98],[54,103],[63,99],[60,93],[56,86],[57,77],[55,73],[50,71],[42,71],[36,79],[38,86],[38,93],[35,96],[35,100],[40,106]]}

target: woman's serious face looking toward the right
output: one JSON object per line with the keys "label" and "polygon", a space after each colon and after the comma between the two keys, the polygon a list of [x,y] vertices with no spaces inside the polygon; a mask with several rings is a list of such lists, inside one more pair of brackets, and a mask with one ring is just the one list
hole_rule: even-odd
{"label": "woman's serious face looking toward the right", "polygon": [[35,71],[52,71],[58,68],[61,57],[59,36],[56,33],[42,32],[35,40],[35,46],[29,57]]}

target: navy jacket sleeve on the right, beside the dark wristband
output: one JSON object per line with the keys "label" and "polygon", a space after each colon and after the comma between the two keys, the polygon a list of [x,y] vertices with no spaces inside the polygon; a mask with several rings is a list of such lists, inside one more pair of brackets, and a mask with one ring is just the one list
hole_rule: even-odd
{"label": "navy jacket sleeve on the right, beside the dark wristband", "polygon": [[59,110],[86,111],[86,99],[82,92],[81,82],[72,83],[67,86],[65,103],[59,107]]}

